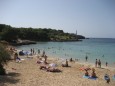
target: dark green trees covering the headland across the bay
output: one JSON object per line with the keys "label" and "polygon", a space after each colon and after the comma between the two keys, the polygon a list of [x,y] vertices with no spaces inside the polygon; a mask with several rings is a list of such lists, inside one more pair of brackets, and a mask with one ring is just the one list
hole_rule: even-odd
{"label": "dark green trees covering the headland across the bay", "polygon": [[65,33],[63,30],[51,28],[24,28],[11,27],[10,25],[0,24],[0,39],[13,42],[18,39],[32,41],[67,41],[84,39],[84,36]]}

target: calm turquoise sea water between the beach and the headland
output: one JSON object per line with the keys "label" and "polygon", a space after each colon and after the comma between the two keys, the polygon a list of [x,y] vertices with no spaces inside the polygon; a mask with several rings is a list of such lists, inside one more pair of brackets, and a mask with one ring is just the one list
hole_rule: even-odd
{"label": "calm turquoise sea water between the beach and the headland", "polygon": [[45,50],[46,55],[58,58],[80,59],[85,62],[85,56],[88,56],[88,62],[95,63],[95,59],[100,59],[104,65],[107,61],[110,66],[115,63],[115,39],[112,38],[91,38],[79,42],[38,42],[32,45],[17,46],[17,49]]}

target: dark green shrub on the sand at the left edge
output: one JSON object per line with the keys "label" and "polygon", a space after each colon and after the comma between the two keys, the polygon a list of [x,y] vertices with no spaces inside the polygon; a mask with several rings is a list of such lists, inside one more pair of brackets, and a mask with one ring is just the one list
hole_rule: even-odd
{"label": "dark green shrub on the sand at the left edge", "polygon": [[5,47],[0,44],[0,75],[5,75],[4,65],[11,59],[10,54],[5,49]]}

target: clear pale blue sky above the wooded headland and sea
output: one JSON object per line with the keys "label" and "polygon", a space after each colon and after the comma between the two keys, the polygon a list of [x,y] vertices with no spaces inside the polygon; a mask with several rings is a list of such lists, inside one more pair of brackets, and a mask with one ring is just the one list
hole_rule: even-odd
{"label": "clear pale blue sky above the wooded headland and sea", "polygon": [[0,23],[115,38],[115,0],[0,0]]}

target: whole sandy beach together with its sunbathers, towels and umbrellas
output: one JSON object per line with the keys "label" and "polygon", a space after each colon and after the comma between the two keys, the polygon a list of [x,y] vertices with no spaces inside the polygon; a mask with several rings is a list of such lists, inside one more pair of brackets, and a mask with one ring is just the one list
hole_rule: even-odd
{"label": "whole sandy beach together with its sunbathers, towels and umbrellas", "polygon": [[[115,69],[107,62],[103,68],[100,59],[93,66],[72,58],[49,57],[40,49],[8,50],[12,60],[5,66],[7,75],[0,76],[0,86],[115,86]],[[84,59],[87,62],[88,56]]]}

